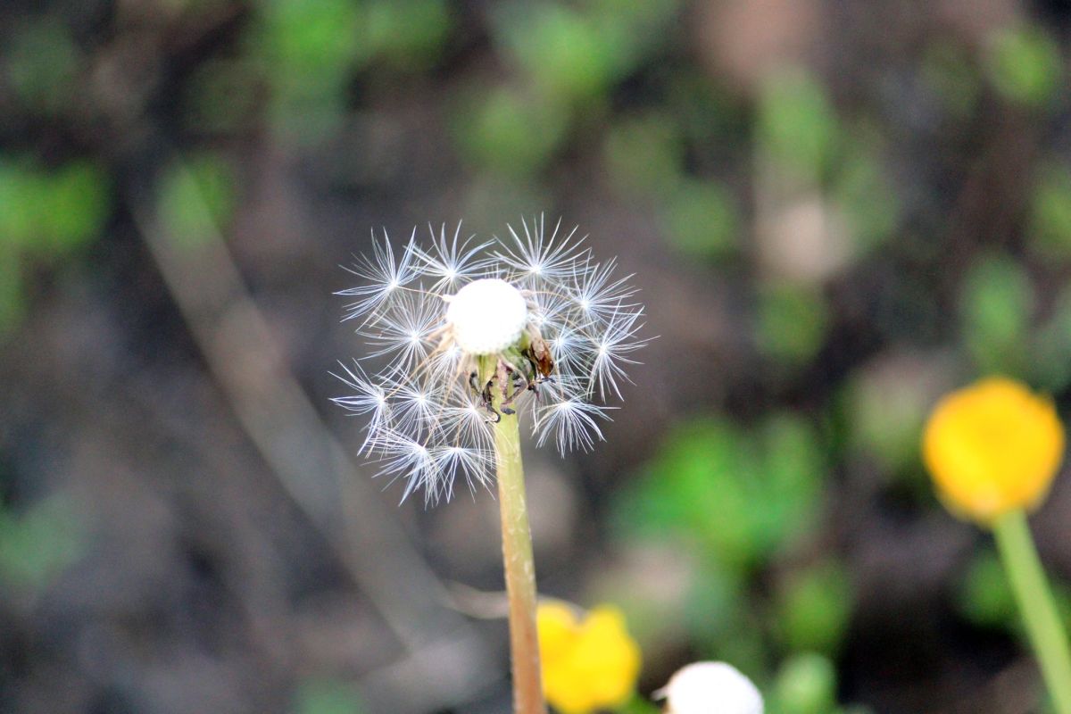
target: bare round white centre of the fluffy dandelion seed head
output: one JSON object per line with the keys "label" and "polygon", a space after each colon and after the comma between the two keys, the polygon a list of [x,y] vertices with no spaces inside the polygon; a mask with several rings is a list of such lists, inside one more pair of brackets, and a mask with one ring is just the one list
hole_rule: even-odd
{"label": "bare round white centre of the fluffy dandelion seed head", "polygon": [[447,321],[469,354],[497,354],[521,339],[528,305],[515,287],[497,277],[469,283],[450,298]]}

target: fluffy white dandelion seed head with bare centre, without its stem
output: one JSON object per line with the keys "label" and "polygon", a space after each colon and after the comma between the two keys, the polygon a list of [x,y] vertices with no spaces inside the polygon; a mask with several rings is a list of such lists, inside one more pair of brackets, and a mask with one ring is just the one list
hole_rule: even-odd
{"label": "fluffy white dandelion seed head with bare centre, without its stem", "polygon": [[537,444],[553,439],[562,454],[602,440],[603,401],[621,398],[648,341],[637,336],[644,308],[631,275],[559,228],[547,234],[541,216],[476,242],[459,240],[458,224],[452,238],[432,228],[428,246],[414,230],[401,247],[373,233],[371,255],[349,269],[361,284],[338,294],[353,299],[345,319],[368,349],[335,375],[350,394],[334,401],[366,420],[361,452],[405,481],[403,499],[449,499],[458,477],[487,485],[501,412],[529,414]]}

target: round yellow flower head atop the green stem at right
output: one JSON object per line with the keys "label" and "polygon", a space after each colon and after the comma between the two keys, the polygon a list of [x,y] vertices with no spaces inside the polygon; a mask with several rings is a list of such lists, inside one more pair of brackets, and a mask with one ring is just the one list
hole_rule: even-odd
{"label": "round yellow flower head atop the green stem at right", "polygon": [[1064,426],[1050,399],[994,377],[937,402],[922,456],[948,507],[989,523],[1045,497],[1064,457]]}

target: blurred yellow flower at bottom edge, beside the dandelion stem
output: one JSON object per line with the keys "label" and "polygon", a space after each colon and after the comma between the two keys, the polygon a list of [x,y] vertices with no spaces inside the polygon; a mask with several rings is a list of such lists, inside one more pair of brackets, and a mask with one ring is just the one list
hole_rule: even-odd
{"label": "blurred yellow flower at bottom edge, beside the dandelion stem", "polygon": [[543,690],[562,714],[589,714],[623,704],[639,674],[639,645],[629,636],[624,617],[599,606],[577,620],[559,602],[539,606],[539,645]]}

